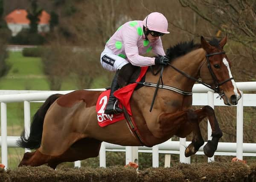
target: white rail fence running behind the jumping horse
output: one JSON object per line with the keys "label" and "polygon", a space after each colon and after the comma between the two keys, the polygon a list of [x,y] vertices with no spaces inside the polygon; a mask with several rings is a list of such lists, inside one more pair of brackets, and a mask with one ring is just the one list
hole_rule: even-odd
{"label": "white rail fence running behind the jumping horse", "polygon": [[[242,159],[243,156],[256,156],[256,144],[243,143],[243,107],[244,106],[256,106],[256,94],[244,94],[243,91],[256,91],[256,82],[237,82],[237,87],[241,90],[242,98],[236,107],[236,126],[237,126],[237,140],[236,143],[220,142],[218,144],[215,155],[233,155]],[[104,90],[104,89],[93,89],[93,90]],[[44,101],[50,95],[55,93],[66,94],[69,91],[14,91],[14,90],[0,90],[0,105],[1,105],[1,155],[2,163],[8,167],[7,159],[7,147],[17,147],[16,140],[18,136],[7,136],[7,116],[6,116],[6,104],[11,102],[23,102],[24,103],[24,126],[26,134],[30,130],[30,102],[33,101]],[[224,106],[223,101],[216,99],[217,95],[214,94],[207,87],[201,84],[195,84],[193,87],[193,105],[210,105]],[[211,129],[208,122],[208,139],[211,139]],[[158,144],[152,148],[149,147],[129,147],[120,146],[115,144],[109,144],[102,142],[100,149],[100,167],[106,166],[105,153],[109,151],[125,151],[126,153],[126,164],[128,162],[138,162],[138,152],[152,152],[153,167],[159,166],[158,156],[159,153],[166,153],[166,166],[169,166],[169,155],[180,154],[180,162],[190,163],[190,157],[184,156],[185,146],[188,146],[190,142],[186,142],[186,139],[180,141],[166,141],[162,144]],[[203,154],[203,147],[201,147],[197,154]],[[25,150],[27,151],[27,150]],[[214,161],[214,156],[209,158],[208,161]],[[76,167],[80,167],[80,161],[75,162]]]}

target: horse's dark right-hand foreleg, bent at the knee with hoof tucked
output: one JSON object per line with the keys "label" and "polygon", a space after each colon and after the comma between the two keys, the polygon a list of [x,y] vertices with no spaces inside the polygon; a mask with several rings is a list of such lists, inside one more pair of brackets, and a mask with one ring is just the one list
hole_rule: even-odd
{"label": "horse's dark right-hand foreleg, bent at the knee with hoof tucked", "polygon": [[218,141],[222,136],[222,131],[218,125],[215,112],[210,106],[204,106],[203,108],[196,110],[195,113],[198,115],[198,121],[200,122],[205,117],[208,118],[209,123],[212,128],[212,140],[208,140],[207,144],[204,146],[204,154],[207,157],[212,157],[215,150],[218,147]]}

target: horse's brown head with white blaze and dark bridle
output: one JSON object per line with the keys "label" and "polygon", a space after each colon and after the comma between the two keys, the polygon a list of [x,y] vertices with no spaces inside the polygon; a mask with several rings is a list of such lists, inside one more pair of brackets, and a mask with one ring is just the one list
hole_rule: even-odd
{"label": "horse's brown head with white blaze and dark bridle", "polygon": [[221,95],[226,105],[236,105],[241,98],[241,93],[231,74],[231,63],[227,58],[223,47],[227,42],[227,36],[221,41],[213,39],[208,43],[201,37],[201,46],[207,52],[206,61],[201,66],[200,76],[202,81],[209,84]]}

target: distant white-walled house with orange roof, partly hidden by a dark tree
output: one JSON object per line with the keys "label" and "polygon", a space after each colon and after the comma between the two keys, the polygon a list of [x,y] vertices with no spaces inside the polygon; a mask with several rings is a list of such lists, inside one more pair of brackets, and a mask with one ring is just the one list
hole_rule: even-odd
{"label": "distant white-walled house with orange roof, partly hidden by a dark tree", "polygon": [[[12,31],[12,36],[16,36],[22,29],[29,28],[30,21],[26,17],[27,14],[25,9],[15,9],[5,17],[7,26]],[[50,15],[43,10],[39,19],[38,32],[49,32]]]}

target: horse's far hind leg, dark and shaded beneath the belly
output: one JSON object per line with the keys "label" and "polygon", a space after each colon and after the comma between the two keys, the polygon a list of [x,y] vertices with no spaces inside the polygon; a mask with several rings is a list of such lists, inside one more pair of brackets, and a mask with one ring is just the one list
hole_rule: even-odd
{"label": "horse's far hind leg, dark and shaded beneath the belly", "polygon": [[52,157],[49,160],[48,165],[55,169],[61,162],[73,162],[97,157],[99,155],[100,146],[101,141],[99,140],[90,138],[80,139],[60,156]]}

